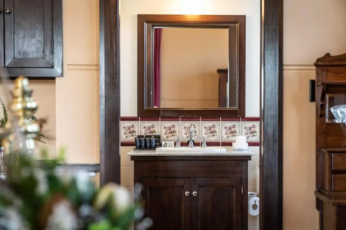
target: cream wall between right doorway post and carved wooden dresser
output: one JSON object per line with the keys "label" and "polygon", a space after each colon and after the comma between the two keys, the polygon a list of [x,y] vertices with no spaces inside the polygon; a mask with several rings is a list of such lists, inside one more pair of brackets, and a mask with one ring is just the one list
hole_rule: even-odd
{"label": "cream wall between right doorway post and carved wooden dresser", "polygon": [[315,103],[309,102],[313,62],[346,52],[346,1],[284,1],[284,230],[318,229],[315,208]]}

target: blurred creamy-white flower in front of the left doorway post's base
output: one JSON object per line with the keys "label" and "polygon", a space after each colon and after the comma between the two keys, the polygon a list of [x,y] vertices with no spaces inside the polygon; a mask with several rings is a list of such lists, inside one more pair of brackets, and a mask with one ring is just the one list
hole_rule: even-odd
{"label": "blurred creamy-white flower in front of the left doorway post's base", "polygon": [[129,208],[131,204],[130,193],[127,189],[121,188],[116,183],[109,183],[101,188],[97,198],[95,199],[95,208],[103,208],[110,196],[113,196],[113,205],[118,213],[122,213]]}

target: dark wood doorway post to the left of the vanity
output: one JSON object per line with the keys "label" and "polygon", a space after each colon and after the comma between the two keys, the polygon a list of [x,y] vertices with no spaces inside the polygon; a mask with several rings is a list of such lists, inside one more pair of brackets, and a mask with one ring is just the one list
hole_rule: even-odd
{"label": "dark wood doorway post to the left of the vanity", "polygon": [[120,184],[119,0],[100,0],[100,186]]}

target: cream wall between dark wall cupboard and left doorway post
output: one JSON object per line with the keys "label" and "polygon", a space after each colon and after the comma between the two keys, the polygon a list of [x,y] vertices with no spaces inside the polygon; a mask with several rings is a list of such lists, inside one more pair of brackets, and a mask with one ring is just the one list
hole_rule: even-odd
{"label": "cream wall between dark wall cupboard and left doorway post", "polygon": [[56,147],[68,163],[99,162],[98,0],[63,1],[64,77],[56,78]]}

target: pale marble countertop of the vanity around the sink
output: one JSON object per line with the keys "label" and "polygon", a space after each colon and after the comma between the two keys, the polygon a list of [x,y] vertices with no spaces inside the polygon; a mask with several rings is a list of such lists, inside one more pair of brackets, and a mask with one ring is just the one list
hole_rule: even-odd
{"label": "pale marble countertop of the vanity around the sink", "polygon": [[254,156],[255,153],[249,150],[246,151],[236,151],[232,149],[227,149],[226,152],[215,152],[215,153],[198,153],[198,152],[154,152],[154,151],[131,151],[127,153],[127,156]]}

